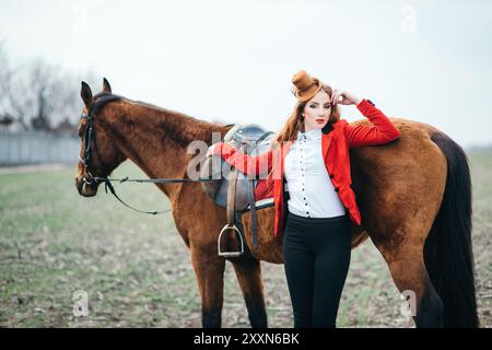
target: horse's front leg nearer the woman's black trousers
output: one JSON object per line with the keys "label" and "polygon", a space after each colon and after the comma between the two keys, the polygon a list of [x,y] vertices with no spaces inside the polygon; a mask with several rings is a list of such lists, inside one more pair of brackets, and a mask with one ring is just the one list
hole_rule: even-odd
{"label": "horse's front leg nearer the woman's black trousers", "polygon": [[267,311],[263,299],[260,261],[254,257],[242,257],[231,260],[241,291],[248,310],[249,323],[253,328],[267,328]]}

